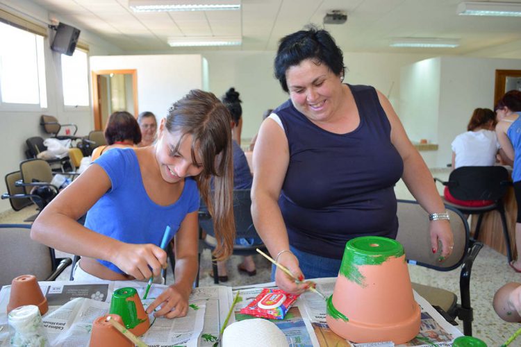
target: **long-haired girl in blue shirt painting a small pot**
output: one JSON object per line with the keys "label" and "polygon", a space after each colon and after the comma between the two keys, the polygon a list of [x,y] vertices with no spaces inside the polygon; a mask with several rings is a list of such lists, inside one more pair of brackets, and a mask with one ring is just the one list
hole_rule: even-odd
{"label": "long-haired girl in blue shirt painting a small pot", "polygon": [[[231,254],[233,164],[230,116],[215,95],[192,90],[169,108],[153,146],[113,149],[96,160],[45,208],[31,237],[81,255],[81,273],[104,280],[159,276],[175,239],[175,282],[147,307],[156,316],[184,316],[197,275],[199,192],[213,215],[215,257]],[[210,177],[215,191],[210,198]],[[85,226],[76,219],[88,212]]]}

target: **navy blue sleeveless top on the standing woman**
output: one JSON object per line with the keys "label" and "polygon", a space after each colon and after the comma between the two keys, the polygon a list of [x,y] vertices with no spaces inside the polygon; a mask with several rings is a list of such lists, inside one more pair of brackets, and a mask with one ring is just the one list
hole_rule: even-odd
{"label": "navy blue sleeveless top on the standing woman", "polygon": [[394,185],[404,170],[376,90],[348,86],[360,115],[350,133],[316,126],[290,100],[273,112],[281,119],[290,151],[279,197],[290,244],[337,259],[354,237],[396,237]]}

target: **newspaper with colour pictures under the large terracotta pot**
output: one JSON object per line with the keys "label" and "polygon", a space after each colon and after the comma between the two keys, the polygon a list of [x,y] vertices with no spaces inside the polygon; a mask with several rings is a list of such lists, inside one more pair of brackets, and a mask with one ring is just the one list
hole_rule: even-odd
{"label": "newspaper with colour pictures under the large terracotta pot", "polygon": [[[317,289],[326,297],[333,294],[336,278],[318,278]],[[247,306],[263,288],[276,288],[274,282],[262,285],[235,287],[233,295],[240,290],[242,301],[235,307],[235,319],[250,319],[251,316],[240,314],[240,309]],[[421,308],[420,333],[415,339],[402,346],[452,346],[452,341],[463,334],[453,325],[445,321],[424,298],[414,292],[415,301]],[[326,323],[326,303],[317,294],[307,291],[295,302],[286,314],[283,321],[271,320],[286,335],[290,346],[356,346],[356,347],[388,347],[395,346],[392,342],[379,342],[375,344],[350,344],[335,333]]]}

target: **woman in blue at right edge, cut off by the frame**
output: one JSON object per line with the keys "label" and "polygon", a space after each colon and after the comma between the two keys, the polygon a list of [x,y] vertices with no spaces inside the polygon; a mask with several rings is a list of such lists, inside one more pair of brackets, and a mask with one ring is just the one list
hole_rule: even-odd
{"label": "woman in blue at right edge, cut off by the frame", "polygon": [[[515,200],[518,202],[518,218],[515,221],[515,246],[521,250],[521,92],[511,90],[504,94],[498,103],[505,117],[497,123],[496,133],[502,151],[508,159],[513,160],[512,180],[514,182]],[[521,261],[513,260],[512,269],[521,272]]]}

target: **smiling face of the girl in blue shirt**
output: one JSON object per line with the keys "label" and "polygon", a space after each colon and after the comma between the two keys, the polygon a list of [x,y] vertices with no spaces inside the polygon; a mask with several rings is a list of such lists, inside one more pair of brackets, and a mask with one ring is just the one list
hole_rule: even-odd
{"label": "smiling face of the girl in blue shirt", "polygon": [[192,161],[192,135],[183,136],[180,131],[169,132],[164,126],[164,119],[161,122],[160,137],[156,145],[156,160],[163,180],[168,183],[178,183],[185,177],[197,176],[203,171],[197,148],[195,149],[196,161]]}

